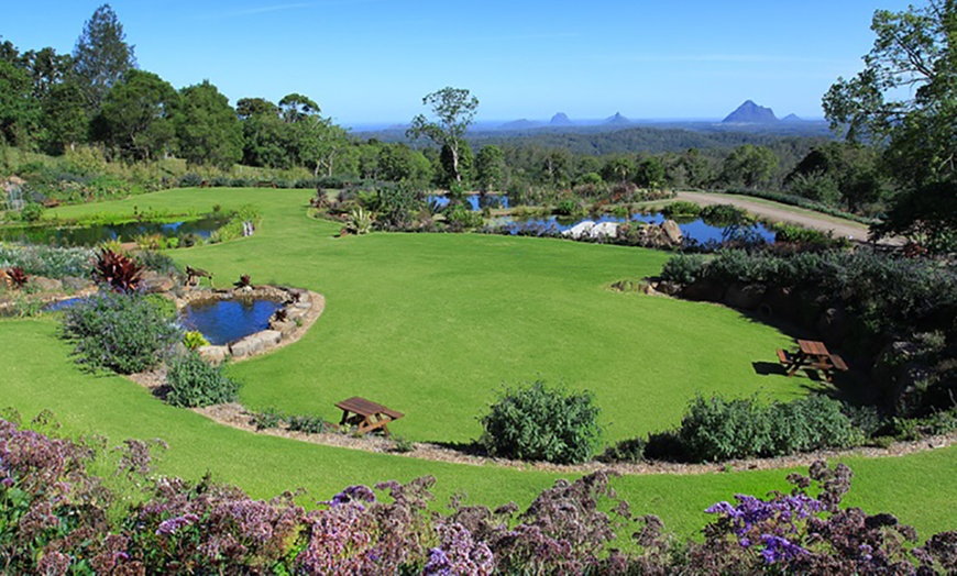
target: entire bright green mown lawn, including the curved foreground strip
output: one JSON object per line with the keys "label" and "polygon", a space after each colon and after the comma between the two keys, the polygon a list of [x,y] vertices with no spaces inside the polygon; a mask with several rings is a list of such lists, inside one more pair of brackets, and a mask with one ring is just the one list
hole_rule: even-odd
{"label": "entire bright green mown lawn, including the curved foreground strip", "polygon": [[[660,270],[667,254],[556,240],[476,234],[372,234],[334,239],[331,223],[306,218],[306,190],[173,190],[109,204],[58,209],[64,217],[147,208],[208,210],[255,203],[255,236],[173,252],[211,270],[218,286],[241,274],[254,283],[308,287],[327,309],[299,343],[233,365],[251,407],[312,411],[338,419],[333,402],[364,396],[405,412],[392,425],[411,440],[468,442],[502,383],[542,377],[596,394],[609,441],[678,424],[695,392],[789,398],[805,378],[760,376],[788,343],[730,310],[608,290],[612,281]],[[257,436],[222,428],[152,399],[116,377],[77,370],[51,320],[0,322],[2,405],[26,414],[53,409],[70,432],[165,439],[169,473],[207,469],[257,497],[306,487],[317,498],[354,483],[432,474],[446,498],[527,503],[556,475],[449,465]],[[886,459],[853,459],[855,503],[888,510],[923,533],[954,528],[954,448]],[[784,470],[617,480],[632,509],[660,513],[693,533],[703,510],[735,492],[783,487]]]}

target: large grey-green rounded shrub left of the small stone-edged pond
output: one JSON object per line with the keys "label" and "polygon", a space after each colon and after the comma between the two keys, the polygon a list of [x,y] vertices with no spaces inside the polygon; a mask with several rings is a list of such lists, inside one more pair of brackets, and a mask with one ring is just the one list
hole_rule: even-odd
{"label": "large grey-green rounded shrub left of the small stone-edged pond", "polygon": [[77,363],[133,374],[154,367],[183,340],[174,314],[160,297],[100,292],[64,311],[63,335]]}

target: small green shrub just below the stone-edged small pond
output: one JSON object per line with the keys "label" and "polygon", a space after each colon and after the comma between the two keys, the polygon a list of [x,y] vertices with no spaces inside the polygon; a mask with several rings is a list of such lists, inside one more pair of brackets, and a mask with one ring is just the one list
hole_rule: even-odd
{"label": "small green shrub just below the stone-edged small pond", "polygon": [[233,402],[239,394],[239,383],[227,377],[222,366],[209,364],[196,352],[169,363],[166,384],[166,401],[183,408]]}

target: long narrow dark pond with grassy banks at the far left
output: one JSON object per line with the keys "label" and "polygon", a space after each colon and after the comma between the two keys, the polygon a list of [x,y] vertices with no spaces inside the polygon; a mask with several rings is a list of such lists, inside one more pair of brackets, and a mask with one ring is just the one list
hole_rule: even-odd
{"label": "long narrow dark pond with grassy banks at the far left", "polygon": [[18,226],[0,228],[0,240],[24,242],[30,244],[50,244],[57,246],[96,246],[102,242],[119,240],[133,242],[136,236],[160,234],[164,237],[196,234],[208,239],[212,232],[221,228],[226,219],[207,217],[184,222],[127,222],[123,224],[98,224],[92,226]]}

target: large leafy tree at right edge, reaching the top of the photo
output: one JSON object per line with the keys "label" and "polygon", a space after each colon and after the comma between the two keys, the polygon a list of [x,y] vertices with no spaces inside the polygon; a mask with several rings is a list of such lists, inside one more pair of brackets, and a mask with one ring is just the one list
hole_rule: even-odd
{"label": "large leafy tree at right edge, reaching the top of the photo", "polygon": [[957,0],[875,12],[865,67],[824,95],[832,128],[882,147],[900,192],[877,236],[904,234],[934,251],[957,237]]}

